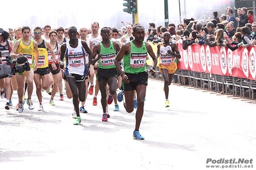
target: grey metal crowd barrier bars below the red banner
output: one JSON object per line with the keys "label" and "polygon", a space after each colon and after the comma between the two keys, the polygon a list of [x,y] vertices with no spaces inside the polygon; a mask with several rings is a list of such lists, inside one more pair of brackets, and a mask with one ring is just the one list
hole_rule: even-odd
{"label": "grey metal crowd barrier bars below the red banner", "polygon": [[[164,81],[162,75],[158,71],[158,67],[156,68],[156,71],[155,75],[152,76],[148,67],[147,72],[149,78]],[[214,91],[215,93],[239,98],[248,98],[249,100],[256,99],[256,81],[250,79],[181,69],[178,69],[175,75],[177,75],[178,84],[183,86],[207,89],[209,91]]]}

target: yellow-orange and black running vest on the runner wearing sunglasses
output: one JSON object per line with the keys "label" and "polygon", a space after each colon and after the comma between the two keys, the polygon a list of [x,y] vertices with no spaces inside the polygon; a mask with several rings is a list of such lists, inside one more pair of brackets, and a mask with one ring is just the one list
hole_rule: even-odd
{"label": "yellow-orange and black running vest on the runner wearing sunglasses", "polygon": [[37,68],[46,68],[48,66],[48,50],[46,43],[42,40],[42,43],[38,44],[38,62]]}

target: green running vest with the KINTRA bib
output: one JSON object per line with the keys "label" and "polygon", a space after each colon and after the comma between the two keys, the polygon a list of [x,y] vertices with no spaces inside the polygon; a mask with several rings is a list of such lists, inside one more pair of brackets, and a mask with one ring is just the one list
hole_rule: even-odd
{"label": "green running vest with the KINTRA bib", "polygon": [[102,42],[99,42],[99,45],[101,46],[100,54],[102,56],[98,61],[98,67],[103,69],[115,68],[115,49],[113,42],[110,40],[110,46],[107,48],[104,47]]}

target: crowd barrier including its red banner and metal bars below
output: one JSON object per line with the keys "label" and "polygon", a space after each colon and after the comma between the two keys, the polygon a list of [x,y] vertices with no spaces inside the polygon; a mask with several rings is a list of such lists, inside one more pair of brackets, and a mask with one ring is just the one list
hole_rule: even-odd
{"label": "crowd barrier including its red banner and metal bars below", "polygon": [[[256,46],[234,51],[197,44],[187,50],[182,49],[182,44],[177,46],[181,54],[175,73],[179,84],[248,100],[256,99]],[[149,78],[163,80],[158,67],[155,76],[149,74]]]}

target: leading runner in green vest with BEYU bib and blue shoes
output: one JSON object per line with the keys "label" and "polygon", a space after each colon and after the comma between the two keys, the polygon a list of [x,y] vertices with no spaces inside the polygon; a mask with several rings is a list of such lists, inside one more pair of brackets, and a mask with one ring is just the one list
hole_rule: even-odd
{"label": "leading runner in green vest with BEYU bib and blue shoes", "polygon": [[[154,65],[151,74],[155,73],[157,58],[149,43],[144,42],[145,29],[137,24],[133,27],[134,40],[126,43],[121,48],[115,59],[115,66],[124,82],[124,107],[127,112],[132,112],[133,93],[137,93],[137,111],[135,115],[136,123],[133,131],[133,138],[143,140],[144,137],[139,132],[142,116],[144,113],[144,98],[146,96],[146,86],[148,84],[148,73],[146,72],[146,58],[148,54],[153,59]],[[121,70],[119,62],[123,59],[124,72]]]}

